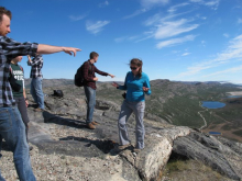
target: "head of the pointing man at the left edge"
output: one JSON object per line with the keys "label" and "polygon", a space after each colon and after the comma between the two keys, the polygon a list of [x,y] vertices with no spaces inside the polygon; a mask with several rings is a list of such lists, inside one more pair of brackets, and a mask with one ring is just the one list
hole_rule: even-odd
{"label": "head of the pointing man at the left edge", "polygon": [[0,7],[0,35],[6,36],[10,33],[10,21],[12,19],[11,11],[7,10],[4,7]]}

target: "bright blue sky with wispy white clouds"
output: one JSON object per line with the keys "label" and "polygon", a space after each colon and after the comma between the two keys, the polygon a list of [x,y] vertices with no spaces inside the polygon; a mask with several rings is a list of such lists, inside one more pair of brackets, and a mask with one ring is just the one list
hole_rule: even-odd
{"label": "bright blue sky with wispy white clouds", "polygon": [[[130,59],[151,80],[242,83],[242,0],[1,0],[19,42],[82,49],[44,55],[44,78],[73,79],[99,53],[97,68],[123,81]],[[29,78],[26,57],[21,65]]]}

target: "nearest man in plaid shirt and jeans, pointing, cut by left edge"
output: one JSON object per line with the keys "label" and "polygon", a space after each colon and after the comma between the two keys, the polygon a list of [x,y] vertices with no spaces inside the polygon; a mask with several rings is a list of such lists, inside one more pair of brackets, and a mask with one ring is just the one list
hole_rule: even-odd
{"label": "nearest man in plaid shirt and jeans, pointing, cut by left edge", "polygon": [[[37,54],[53,54],[65,52],[76,55],[78,48],[51,46],[36,43],[19,43],[6,35],[10,33],[12,14],[0,7],[0,150],[4,138],[13,152],[13,161],[21,181],[35,181],[30,161],[29,145],[26,143],[25,127],[12,94],[9,82],[10,64],[16,56]],[[1,157],[1,155],[0,155]],[[0,173],[0,180],[4,180]]]}

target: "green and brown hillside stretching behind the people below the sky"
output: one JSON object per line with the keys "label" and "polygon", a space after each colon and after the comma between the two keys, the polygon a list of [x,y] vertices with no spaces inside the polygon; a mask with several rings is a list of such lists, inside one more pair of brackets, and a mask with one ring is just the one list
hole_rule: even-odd
{"label": "green and brown hillside stretching behind the people below the sky", "polygon": [[[26,80],[26,84],[29,83],[30,80]],[[50,92],[45,92],[46,94],[53,93],[54,89],[84,94],[82,88],[76,89],[73,80],[69,79],[45,79],[43,87],[50,90]],[[124,91],[114,89],[111,82],[98,82],[97,87],[97,99],[121,104],[123,100],[121,94]],[[221,132],[224,137],[242,142],[241,98],[228,98],[228,92],[242,91],[239,86],[219,82],[188,83],[158,79],[151,81],[151,88],[152,94],[146,97],[146,117],[191,128],[202,127],[205,118],[207,122],[205,132]],[[77,90],[79,92],[76,92]],[[227,105],[221,109],[205,109],[200,106],[201,101],[220,101]]]}

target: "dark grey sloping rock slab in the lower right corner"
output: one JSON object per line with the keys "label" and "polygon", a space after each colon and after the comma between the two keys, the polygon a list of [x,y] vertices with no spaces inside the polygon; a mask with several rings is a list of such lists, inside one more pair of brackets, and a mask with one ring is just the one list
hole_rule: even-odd
{"label": "dark grey sloping rock slab in the lower right corner", "polygon": [[234,151],[239,146],[228,147],[213,136],[201,133],[190,133],[188,136],[174,140],[173,151],[191,159],[200,160],[205,165],[226,174],[228,178],[242,178],[242,157]]}

